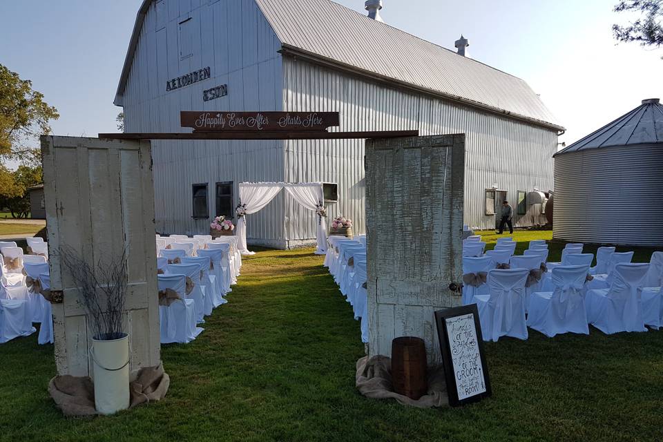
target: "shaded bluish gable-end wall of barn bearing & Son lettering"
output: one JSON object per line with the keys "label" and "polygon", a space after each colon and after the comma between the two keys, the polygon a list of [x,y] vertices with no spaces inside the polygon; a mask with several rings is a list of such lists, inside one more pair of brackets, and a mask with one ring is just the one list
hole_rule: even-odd
{"label": "shaded bluish gable-end wall of barn bearing & Son lettering", "polygon": [[[148,10],[124,94],[128,132],[180,132],[180,111],[279,111],[282,106],[280,42],[251,0],[198,7],[164,0],[168,17],[157,30],[154,3]],[[198,3],[198,2],[196,2]],[[180,60],[177,25],[191,17],[200,35],[193,56]],[[198,38],[199,37],[199,38]],[[166,80],[211,67],[210,79],[166,92]],[[229,95],[203,102],[202,91],[227,84]],[[215,183],[233,181],[235,202],[243,181],[282,181],[282,142],[153,142],[155,221],[164,233],[206,233],[209,220],[193,220],[192,184],[208,183],[209,215],[215,215]],[[280,246],[284,196],[251,215],[247,236]]]}

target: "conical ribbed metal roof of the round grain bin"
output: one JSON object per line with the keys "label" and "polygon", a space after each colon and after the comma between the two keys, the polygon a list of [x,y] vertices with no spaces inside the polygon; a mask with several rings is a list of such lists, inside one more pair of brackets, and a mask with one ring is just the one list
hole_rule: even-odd
{"label": "conical ribbed metal roof of the round grain bin", "polygon": [[590,133],[555,155],[633,144],[663,144],[663,105],[660,104],[660,99],[642,100],[642,104],[633,111]]}

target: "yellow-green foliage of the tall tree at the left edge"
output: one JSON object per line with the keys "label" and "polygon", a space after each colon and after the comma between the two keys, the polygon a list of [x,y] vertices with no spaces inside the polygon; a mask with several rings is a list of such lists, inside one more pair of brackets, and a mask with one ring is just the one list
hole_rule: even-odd
{"label": "yellow-green foliage of the tall tree at the left edge", "polygon": [[32,81],[0,64],[0,162],[34,161],[35,149],[28,143],[50,133],[49,122],[58,117],[44,94],[32,89]]}

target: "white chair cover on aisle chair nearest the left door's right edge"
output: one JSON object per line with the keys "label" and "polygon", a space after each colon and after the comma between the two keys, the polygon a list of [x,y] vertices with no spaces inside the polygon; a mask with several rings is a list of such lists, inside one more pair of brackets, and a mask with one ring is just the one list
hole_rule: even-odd
{"label": "white chair cover on aisle chair nearest the left door's right edge", "polygon": [[202,328],[196,327],[195,302],[186,298],[186,276],[181,274],[157,275],[159,290],[174,290],[182,300],[168,307],[159,306],[161,343],[190,343]]}

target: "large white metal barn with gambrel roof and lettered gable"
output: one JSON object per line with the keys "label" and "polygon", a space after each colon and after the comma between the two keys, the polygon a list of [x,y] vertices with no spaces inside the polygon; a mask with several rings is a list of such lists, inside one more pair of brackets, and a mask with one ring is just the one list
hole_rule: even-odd
{"label": "large white metal barn with gambrel roof and lettered gable", "polygon": [[[546,224],[564,130],[522,79],[328,0],[144,0],[114,102],[127,132],[187,131],[180,111],[338,111],[333,130],[465,133],[465,224],[479,229],[504,199],[515,226]],[[361,233],[364,144],[155,141],[157,231],[206,232],[233,215],[240,182],[325,182],[329,215]],[[252,244],[315,236],[285,194],[248,220]]]}

